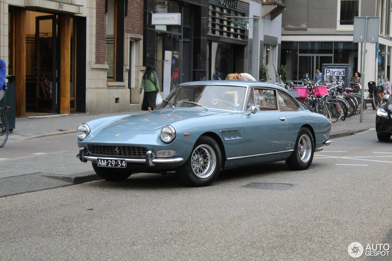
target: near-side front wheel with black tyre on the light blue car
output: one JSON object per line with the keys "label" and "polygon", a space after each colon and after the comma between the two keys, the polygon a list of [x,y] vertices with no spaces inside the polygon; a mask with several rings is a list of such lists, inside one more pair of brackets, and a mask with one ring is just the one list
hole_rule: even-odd
{"label": "near-side front wheel with black tyre on the light blue car", "polygon": [[218,143],[209,136],[201,136],[187,161],[176,170],[176,175],[191,187],[204,187],[218,178],[221,164],[222,156]]}

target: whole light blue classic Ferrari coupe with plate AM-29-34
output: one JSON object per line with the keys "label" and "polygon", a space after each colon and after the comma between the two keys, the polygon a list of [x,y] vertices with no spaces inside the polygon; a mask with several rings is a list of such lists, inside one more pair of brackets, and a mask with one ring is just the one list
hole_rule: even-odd
{"label": "whole light blue classic Ferrari coupe with plate AM-29-34", "polygon": [[223,169],[286,161],[305,170],[329,145],[330,122],[277,85],[200,81],[178,85],[158,108],[98,118],[78,127],[82,162],[122,180],[175,171],[187,185],[211,184]]}

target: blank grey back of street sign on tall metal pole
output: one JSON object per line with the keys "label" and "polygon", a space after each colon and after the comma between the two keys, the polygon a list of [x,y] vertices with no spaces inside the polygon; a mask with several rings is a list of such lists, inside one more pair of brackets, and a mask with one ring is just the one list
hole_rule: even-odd
{"label": "blank grey back of street sign on tall metal pole", "polygon": [[[378,26],[379,17],[354,17],[354,43],[364,43],[363,46],[363,63],[362,63],[362,90],[361,90],[361,114],[359,116],[359,122],[362,122],[363,110],[363,88],[365,87],[365,54],[366,43],[378,43]],[[376,54],[377,55],[377,54]]]}

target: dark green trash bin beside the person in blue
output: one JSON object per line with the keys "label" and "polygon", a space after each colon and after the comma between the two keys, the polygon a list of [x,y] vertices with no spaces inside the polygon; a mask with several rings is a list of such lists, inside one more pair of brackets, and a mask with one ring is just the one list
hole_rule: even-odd
{"label": "dark green trash bin beside the person in blue", "polygon": [[16,115],[16,83],[15,76],[7,75],[5,78],[8,80],[7,91],[4,98],[0,101],[0,106],[9,106],[7,111],[8,129],[15,129],[15,115]]}

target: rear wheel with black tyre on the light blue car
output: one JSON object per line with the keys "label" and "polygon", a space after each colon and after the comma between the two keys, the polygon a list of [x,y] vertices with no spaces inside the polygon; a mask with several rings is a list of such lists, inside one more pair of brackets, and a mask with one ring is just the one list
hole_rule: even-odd
{"label": "rear wheel with black tyre on the light blue car", "polygon": [[314,141],[312,133],[308,128],[299,129],[297,140],[286,165],[292,170],[305,170],[309,168],[313,161]]}

